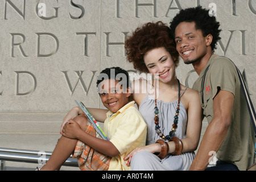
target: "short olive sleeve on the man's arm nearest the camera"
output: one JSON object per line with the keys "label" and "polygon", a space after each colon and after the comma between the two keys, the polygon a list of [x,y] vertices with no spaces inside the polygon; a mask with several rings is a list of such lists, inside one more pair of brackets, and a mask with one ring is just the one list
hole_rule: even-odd
{"label": "short olive sleeve on the man's arm nearest the camera", "polygon": [[226,57],[218,57],[211,63],[209,72],[209,80],[205,81],[209,81],[211,85],[210,88],[212,88],[213,98],[216,96],[219,89],[231,92],[236,96],[237,71],[232,61]]}

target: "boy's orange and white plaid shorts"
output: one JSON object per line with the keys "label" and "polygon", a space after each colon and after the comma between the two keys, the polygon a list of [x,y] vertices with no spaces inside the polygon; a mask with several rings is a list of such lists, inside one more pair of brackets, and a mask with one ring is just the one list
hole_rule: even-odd
{"label": "boy's orange and white plaid shorts", "polygon": [[[89,121],[87,122],[85,131],[94,137],[101,138]],[[101,154],[80,140],[77,141],[73,153],[73,158],[75,157],[82,171],[107,171],[110,160],[112,159],[112,157]]]}

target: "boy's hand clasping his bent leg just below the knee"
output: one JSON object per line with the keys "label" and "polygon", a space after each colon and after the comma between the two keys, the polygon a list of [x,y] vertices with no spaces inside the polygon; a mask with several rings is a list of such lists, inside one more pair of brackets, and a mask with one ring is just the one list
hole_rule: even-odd
{"label": "boy's hand clasping his bent leg just below the knee", "polygon": [[61,134],[67,138],[77,139],[80,131],[82,131],[82,129],[79,124],[73,120],[69,120],[69,122],[64,125]]}

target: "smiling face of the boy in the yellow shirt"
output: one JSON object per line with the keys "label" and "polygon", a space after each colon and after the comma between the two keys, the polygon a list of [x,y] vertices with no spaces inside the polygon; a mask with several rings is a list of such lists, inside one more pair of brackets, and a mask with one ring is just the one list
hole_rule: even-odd
{"label": "smiling face of the boy in the yellow shirt", "polygon": [[113,113],[125,106],[129,102],[129,96],[131,95],[130,88],[123,90],[118,82],[120,81],[109,79],[100,82],[98,85],[102,104]]}

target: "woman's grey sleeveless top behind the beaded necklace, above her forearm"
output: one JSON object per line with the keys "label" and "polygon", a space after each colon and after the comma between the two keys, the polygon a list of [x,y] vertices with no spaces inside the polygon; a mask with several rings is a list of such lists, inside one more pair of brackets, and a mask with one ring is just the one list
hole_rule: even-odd
{"label": "woman's grey sleeveless top behind the beaded necklace, above her forearm", "polygon": [[[187,88],[185,88],[186,90]],[[184,92],[185,92],[184,90]],[[183,93],[184,93],[183,92]],[[181,96],[183,95],[181,94]],[[181,97],[180,96],[180,97]],[[174,102],[163,102],[156,100],[156,104],[159,110],[159,126],[160,130],[164,135],[168,135],[172,129],[172,124],[174,123],[174,116],[176,113],[178,100]],[[144,121],[147,123],[147,141],[146,144],[155,143],[156,140],[161,139],[155,131],[155,100],[150,95],[147,95],[144,100],[139,105],[139,111],[141,112]],[[187,129],[187,111],[180,102],[179,110],[179,120],[177,123],[177,129],[175,131],[175,137],[179,139],[186,137]],[[167,142],[168,140],[166,140]]]}

